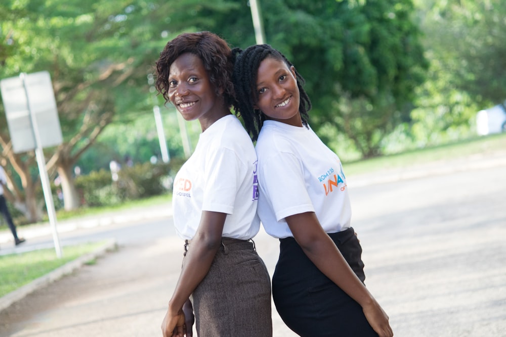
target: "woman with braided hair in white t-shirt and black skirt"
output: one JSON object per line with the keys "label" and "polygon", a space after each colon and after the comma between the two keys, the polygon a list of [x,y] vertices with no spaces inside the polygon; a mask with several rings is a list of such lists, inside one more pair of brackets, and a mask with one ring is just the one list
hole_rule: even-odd
{"label": "woman with braided hair in white t-shirt and black skirt", "polygon": [[257,140],[258,214],[280,240],[272,277],[277,311],[301,336],[393,336],[363,283],[346,178],[308,124],[304,79],[270,45],[233,53],[239,113]]}

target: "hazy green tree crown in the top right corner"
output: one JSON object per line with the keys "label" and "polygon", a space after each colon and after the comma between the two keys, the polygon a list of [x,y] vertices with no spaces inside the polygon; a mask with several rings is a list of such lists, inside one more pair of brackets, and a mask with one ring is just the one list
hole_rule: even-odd
{"label": "hazy green tree crown in the top right corner", "polygon": [[435,1],[426,15],[433,50],[452,73],[450,83],[479,108],[506,99],[505,12],[502,0],[449,0]]}

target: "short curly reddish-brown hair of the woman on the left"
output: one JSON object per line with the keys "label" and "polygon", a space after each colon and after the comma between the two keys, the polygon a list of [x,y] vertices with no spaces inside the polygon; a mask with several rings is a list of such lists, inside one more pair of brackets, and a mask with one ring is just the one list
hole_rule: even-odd
{"label": "short curly reddish-brown hair of the woman on the left", "polygon": [[232,52],[224,39],[208,31],[180,34],[168,41],[160,53],[155,66],[155,87],[163,95],[165,102],[170,102],[167,92],[171,65],[178,57],[186,53],[200,58],[210,82],[215,86],[216,93],[220,94],[220,89],[223,90],[225,105],[229,108],[235,105]]}

